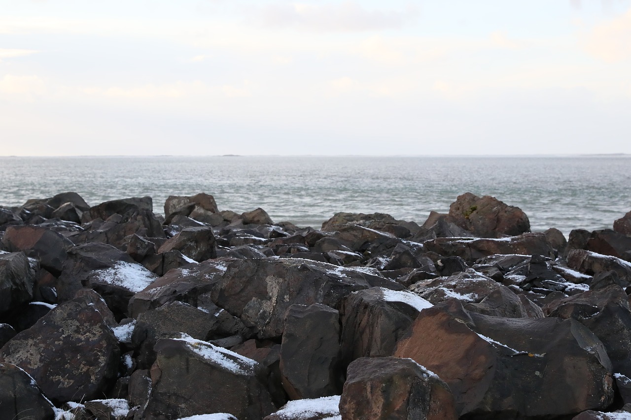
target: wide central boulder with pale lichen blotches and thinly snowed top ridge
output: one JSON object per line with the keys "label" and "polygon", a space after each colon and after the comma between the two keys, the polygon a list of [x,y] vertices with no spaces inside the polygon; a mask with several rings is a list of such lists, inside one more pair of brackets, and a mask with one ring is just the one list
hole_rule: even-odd
{"label": "wide central boulder with pale lichen blotches and thinly snowed top ridge", "polygon": [[259,338],[280,337],[290,305],[322,303],[339,308],[344,296],[372,286],[403,287],[361,270],[302,259],[235,260],[216,283],[211,296],[256,331]]}

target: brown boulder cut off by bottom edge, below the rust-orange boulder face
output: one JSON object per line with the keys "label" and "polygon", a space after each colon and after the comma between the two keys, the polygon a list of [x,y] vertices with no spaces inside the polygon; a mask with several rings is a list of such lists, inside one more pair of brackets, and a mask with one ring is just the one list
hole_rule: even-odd
{"label": "brown boulder cut off by bottom edge, below the rust-orange boulder face", "polygon": [[456,420],[445,382],[410,359],[360,358],[348,366],[342,420]]}

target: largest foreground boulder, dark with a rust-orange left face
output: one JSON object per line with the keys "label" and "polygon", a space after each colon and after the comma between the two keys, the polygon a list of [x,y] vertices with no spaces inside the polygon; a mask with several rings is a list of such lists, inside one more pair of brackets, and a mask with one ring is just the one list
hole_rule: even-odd
{"label": "largest foreground boulder, dark with a rust-orange left face", "polygon": [[604,346],[574,319],[490,317],[451,300],[423,310],[394,356],[437,373],[459,416],[554,418],[613,401]]}

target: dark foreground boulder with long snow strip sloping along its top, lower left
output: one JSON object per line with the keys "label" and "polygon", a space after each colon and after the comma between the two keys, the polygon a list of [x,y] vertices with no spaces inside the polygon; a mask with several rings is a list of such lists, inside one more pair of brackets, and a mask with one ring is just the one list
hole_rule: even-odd
{"label": "dark foreground boulder with long snow strip sloping along its top, lower left", "polygon": [[274,411],[259,382],[259,365],[227,349],[182,335],[155,346],[153,388],[145,420],[226,412],[239,420],[259,420]]}

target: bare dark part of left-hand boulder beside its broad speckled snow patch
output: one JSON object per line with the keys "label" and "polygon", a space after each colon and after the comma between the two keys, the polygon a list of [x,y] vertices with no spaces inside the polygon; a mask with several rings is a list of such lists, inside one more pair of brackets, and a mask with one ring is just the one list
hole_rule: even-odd
{"label": "bare dark part of left-hand boulder beside its broad speckled snow patch", "polygon": [[86,243],[70,248],[57,282],[60,303],[71,300],[88,284],[92,271],[110,269],[122,263],[136,264],[126,252],[105,243]]}

